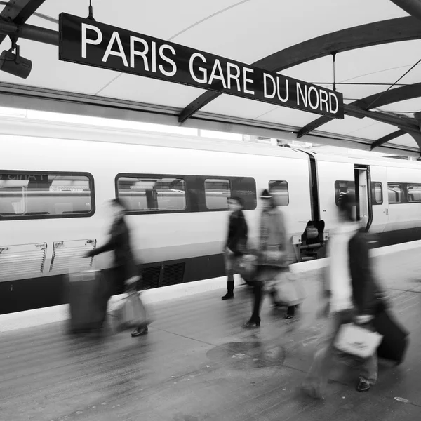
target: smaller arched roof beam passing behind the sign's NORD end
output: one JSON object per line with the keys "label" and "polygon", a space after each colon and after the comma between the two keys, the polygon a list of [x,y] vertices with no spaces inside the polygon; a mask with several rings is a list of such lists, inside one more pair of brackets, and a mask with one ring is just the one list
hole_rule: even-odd
{"label": "smaller arched roof beam passing behind the sign's NORD end", "polygon": [[[368,97],[361,98],[361,100],[356,100],[349,105],[353,105],[354,107],[359,107],[361,109],[373,109],[382,107],[384,105],[393,104],[394,102],[412,100],[413,98],[420,97],[421,83],[414,83],[413,85],[401,86],[400,88],[394,88],[390,89],[389,91],[369,95]],[[315,119],[300,129],[300,131],[297,133],[297,137],[302,138],[302,136],[307,135],[307,133],[310,133],[314,129],[323,126],[323,124],[326,124],[332,120],[333,119],[330,117],[319,117],[319,119]]]}

